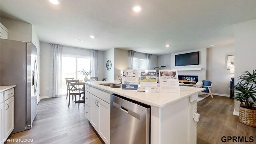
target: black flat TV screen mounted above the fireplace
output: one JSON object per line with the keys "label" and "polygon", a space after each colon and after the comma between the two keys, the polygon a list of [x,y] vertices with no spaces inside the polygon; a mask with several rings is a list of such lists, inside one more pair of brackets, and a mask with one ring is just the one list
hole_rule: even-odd
{"label": "black flat TV screen mounted above the fireplace", "polygon": [[199,64],[199,52],[175,55],[175,66],[189,66]]}

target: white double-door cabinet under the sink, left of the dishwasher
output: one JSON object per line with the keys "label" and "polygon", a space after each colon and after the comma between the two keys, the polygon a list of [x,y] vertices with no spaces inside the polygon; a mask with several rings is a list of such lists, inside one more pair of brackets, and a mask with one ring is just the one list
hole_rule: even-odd
{"label": "white double-door cabinet under the sink, left of the dishwasher", "polygon": [[90,123],[102,140],[110,144],[110,104],[93,94],[90,94]]}

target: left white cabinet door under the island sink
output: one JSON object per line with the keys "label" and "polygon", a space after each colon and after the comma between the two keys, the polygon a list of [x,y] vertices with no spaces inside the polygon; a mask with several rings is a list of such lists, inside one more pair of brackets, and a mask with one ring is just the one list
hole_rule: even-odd
{"label": "left white cabinet door under the island sink", "polygon": [[90,94],[90,123],[98,132],[99,130],[99,107],[97,106],[98,98]]}

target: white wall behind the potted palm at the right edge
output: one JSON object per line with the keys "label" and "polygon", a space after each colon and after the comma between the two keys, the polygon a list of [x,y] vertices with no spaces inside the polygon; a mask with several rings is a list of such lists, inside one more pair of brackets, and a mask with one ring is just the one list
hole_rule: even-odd
{"label": "white wall behind the potted palm at the right edge", "polygon": [[[243,71],[256,69],[256,19],[234,25],[235,83]],[[235,101],[234,114],[239,114],[239,102]]]}

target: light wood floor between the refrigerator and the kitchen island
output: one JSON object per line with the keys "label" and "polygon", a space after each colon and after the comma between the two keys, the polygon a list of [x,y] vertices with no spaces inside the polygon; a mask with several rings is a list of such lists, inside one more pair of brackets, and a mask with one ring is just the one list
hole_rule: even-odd
{"label": "light wood floor between the refrigerator and the kitchen island", "polygon": [[12,134],[10,139],[32,138],[33,142],[7,142],[7,144],[102,144],[84,115],[84,104],[70,102],[66,96],[42,99],[30,130]]}

